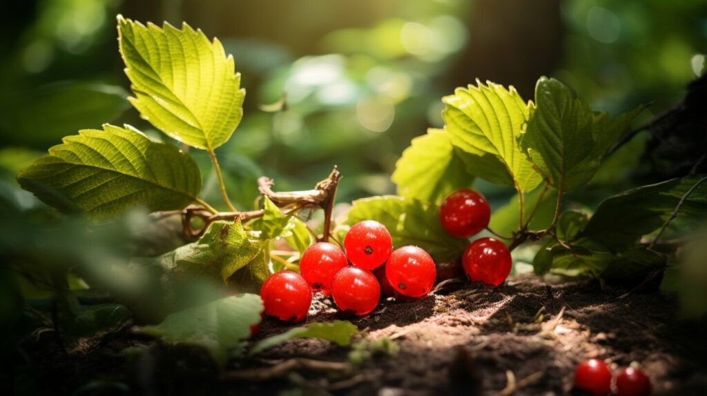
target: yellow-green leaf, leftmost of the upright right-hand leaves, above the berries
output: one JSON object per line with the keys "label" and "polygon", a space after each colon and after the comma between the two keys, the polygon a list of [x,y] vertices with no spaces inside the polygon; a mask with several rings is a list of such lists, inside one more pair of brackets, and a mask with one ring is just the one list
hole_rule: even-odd
{"label": "yellow-green leaf, leftmost of the upright right-hand leaves, above the berries", "polygon": [[452,191],[470,188],[474,177],[466,172],[449,133],[430,128],[427,134],[414,138],[409,148],[395,163],[391,179],[398,186],[398,195],[440,204]]}

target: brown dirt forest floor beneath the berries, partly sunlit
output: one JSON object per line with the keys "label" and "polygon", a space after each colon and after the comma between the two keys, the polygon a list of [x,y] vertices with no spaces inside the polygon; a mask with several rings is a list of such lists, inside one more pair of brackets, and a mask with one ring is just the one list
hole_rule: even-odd
{"label": "brown dirt forest floor beneath the berries, partly sunlit", "polygon": [[[84,354],[62,357],[49,352],[42,359],[42,376],[59,381],[57,393],[100,378],[144,395],[286,391],[281,394],[381,396],[496,395],[504,388],[510,395],[510,376],[518,385],[514,395],[566,395],[573,392],[576,364],[598,357],[614,369],[638,361],[655,395],[703,394],[706,323],[679,320],[676,301],[661,294],[618,299],[625,292],[595,283],[547,284],[522,276],[496,288],[449,284],[417,301],[386,301],[363,318],[345,317],[330,301],[315,300],[308,321],[349,319],[365,329],[356,342],[388,337],[399,347],[393,356],[375,356],[352,370],[341,370],[339,364],[332,370],[300,367],[268,380],[225,379],[243,369],[264,368],[269,373],[274,364],[293,358],[346,362],[350,349],[323,340],[290,340],[255,359],[233,361],[219,373],[201,349],[121,332]],[[267,319],[257,337],[288,327]],[[49,343],[40,340],[34,352],[47,355]],[[128,359],[117,352],[135,345],[148,347]]]}

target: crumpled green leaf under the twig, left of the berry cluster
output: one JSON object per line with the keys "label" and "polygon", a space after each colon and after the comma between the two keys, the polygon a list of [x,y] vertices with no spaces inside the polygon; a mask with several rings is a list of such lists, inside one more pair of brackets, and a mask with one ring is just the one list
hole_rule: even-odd
{"label": "crumpled green leaf under the twig, left of the berry cluster", "polygon": [[203,275],[223,282],[262,253],[265,244],[243,229],[240,221],[213,222],[199,241],[156,258],[136,258],[138,267],[161,268],[165,277]]}

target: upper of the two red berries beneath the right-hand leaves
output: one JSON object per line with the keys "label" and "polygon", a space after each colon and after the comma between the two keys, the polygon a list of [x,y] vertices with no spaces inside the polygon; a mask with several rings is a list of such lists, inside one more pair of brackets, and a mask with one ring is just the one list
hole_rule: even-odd
{"label": "upper of the two red berries beneath the right-hand leaves", "polygon": [[489,226],[491,208],[476,191],[457,190],[440,205],[440,223],[452,236],[469,238]]}

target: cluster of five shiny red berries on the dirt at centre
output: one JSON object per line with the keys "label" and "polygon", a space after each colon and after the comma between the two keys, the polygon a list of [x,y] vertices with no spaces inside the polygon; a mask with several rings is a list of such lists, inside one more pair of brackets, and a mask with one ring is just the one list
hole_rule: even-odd
{"label": "cluster of five shiny red berries on the dirt at centre", "polygon": [[418,298],[432,289],[436,279],[435,263],[426,251],[417,246],[393,251],[390,233],[373,220],[351,227],[344,251],[319,242],[303,253],[301,275],[280,271],[269,277],[260,290],[265,312],[299,322],[307,316],[312,292],[322,292],[332,296],[341,311],[361,316],[373,311],[381,295],[395,291]]}

